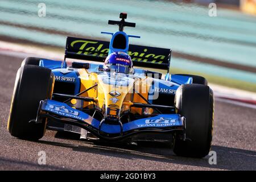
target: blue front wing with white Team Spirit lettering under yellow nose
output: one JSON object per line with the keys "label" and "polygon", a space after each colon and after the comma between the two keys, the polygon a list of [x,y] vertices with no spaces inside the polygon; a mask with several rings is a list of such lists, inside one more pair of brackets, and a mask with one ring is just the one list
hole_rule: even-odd
{"label": "blue front wing with white Team Spirit lettering under yellow nose", "polygon": [[108,123],[101,123],[97,119],[74,109],[63,102],[45,100],[40,102],[38,117],[47,117],[54,121],[79,126],[85,130],[90,131],[96,137],[101,139],[123,139],[131,135],[151,132],[185,132],[185,119],[179,114],[159,114],[150,118],[138,119],[128,123],[118,125],[110,125]]}

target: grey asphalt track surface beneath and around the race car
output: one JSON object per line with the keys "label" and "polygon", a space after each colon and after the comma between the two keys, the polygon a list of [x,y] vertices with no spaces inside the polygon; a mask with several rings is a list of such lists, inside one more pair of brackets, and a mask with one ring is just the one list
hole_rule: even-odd
{"label": "grey asphalt track surface beneath and around the race car", "polygon": [[[92,143],[58,137],[55,131],[38,142],[11,137],[7,118],[21,61],[0,55],[0,170],[256,170],[256,110],[220,100],[214,113],[216,165],[208,163],[210,156],[176,156],[167,144]],[[38,164],[39,151],[46,152],[46,165]]]}

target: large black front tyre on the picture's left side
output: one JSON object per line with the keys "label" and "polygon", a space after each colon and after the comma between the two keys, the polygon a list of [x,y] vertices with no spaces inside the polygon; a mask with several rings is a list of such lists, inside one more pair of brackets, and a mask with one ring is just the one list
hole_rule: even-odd
{"label": "large black front tyre on the picture's left side", "polygon": [[54,76],[51,69],[36,65],[20,67],[15,80],[7,128],[11,135],[21,139],[38,140],[46,130],[42,123],[30,123],[36,118],[39,102],[52,97]]}

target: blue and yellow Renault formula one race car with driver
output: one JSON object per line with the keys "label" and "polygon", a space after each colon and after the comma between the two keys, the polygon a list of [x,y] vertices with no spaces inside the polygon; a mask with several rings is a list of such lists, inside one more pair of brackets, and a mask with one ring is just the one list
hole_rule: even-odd
{"label": "blue and yellow Renault formula one race car with driver", "polygon": [[[180,156],[208,155],[214,101],[207,80],[171,75],[171,49],[129,45],[129,38],[139,36],[123,32],[135,27],[126,17],[109,20],[119,26],[115,33],[102,32],[112,35],[110,42],[68,37],[64,61],[24,59],[11,101],[11,135],[38,140],[50,129],[109,142],[160,140],[172,143]],[[162,79],[162,73],[133,65],[167,74]]]}

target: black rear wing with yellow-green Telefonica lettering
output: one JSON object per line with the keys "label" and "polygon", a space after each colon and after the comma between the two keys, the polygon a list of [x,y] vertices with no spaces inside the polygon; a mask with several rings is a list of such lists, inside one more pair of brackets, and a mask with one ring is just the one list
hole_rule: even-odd
{"label": "black rear wing with yellow-green Telefonica lettering", "polygon": [[[109,53],[109,42],[68,37],[65,58],[104,61]],[[171,49],[129,45],[128,54],[133,65],[169,70]]]}

